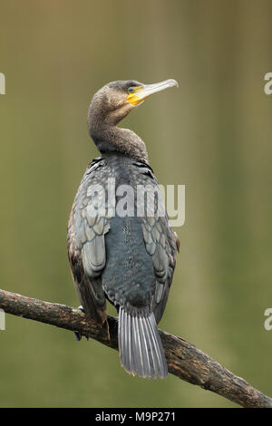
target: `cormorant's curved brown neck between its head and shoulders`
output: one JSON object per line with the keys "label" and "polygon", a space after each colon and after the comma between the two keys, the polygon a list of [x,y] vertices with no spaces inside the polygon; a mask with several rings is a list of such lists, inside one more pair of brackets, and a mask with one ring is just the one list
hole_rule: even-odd
{"label": "cormorant's curved brown neck between its head and shoulders", "polygon": [[90,126],[92,140],[102,154],[121,153],[148,163],[148,153],[143,140],[129,129],[111,123],[97,122]]}

